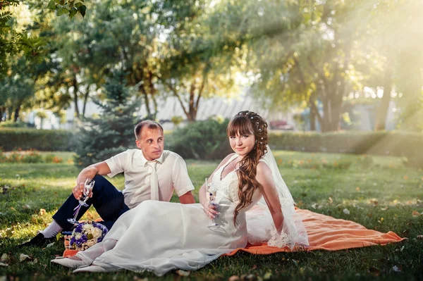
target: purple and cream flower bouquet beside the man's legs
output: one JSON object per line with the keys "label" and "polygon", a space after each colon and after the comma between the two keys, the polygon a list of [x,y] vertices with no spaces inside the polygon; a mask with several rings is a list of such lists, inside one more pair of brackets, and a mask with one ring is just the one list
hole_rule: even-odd
{"label": "purple and cream flower bouquet beside the man's legs", "polygon": [[69,249],[84,251],[102,242],[109,230],[101,223],[87,222],[78,224],[72,232]]}

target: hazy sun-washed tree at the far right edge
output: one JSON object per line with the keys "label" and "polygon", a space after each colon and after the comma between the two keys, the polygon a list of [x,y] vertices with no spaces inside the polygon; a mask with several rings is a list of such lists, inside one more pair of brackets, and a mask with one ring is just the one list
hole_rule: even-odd
{"label": "hazy sun-washed tree at the far right edge", "polygon": [[[386,115],[393,89],[401,94],[399,105],[402,107],[400,124],[402,127],[416,129],[421,127],[419,111],[422,110],[422,71],[423,44],[421,1],[380,1],[375,8],[373,26],[374,37],[370,44],[384,56],[384,74],[379,85],[384,95],[377,108],[375,130],[385,130]],[[417,130],[422,130],[417,129]]]}

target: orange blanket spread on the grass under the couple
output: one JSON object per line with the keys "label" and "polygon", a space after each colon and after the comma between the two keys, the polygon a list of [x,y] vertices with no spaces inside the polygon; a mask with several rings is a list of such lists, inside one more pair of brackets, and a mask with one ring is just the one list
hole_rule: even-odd
{"label": "orange blanket spread on the grass under the couple", "polygon": [[[247,251],[251,254],[274,254],[281,251],[312,251],[326,250],[337,251],[343,249],[360,248],[372,245],[384,245],[391,242],[400,242],[401,238],[394,232],[381,233],[376,230],[368,230],[366,227],[350,220],[340,220],[330,216],[321,215],[308,210],[297,208],[301,216],[309,239],[307,248],[277,248],[264,244],[248,244],[245,248],[239,248],[228,254],[231,256],[237,251]],[[69,242],[65,239],[65,245]],[[66,249],[63,256],[73,256],[75,250]]]}

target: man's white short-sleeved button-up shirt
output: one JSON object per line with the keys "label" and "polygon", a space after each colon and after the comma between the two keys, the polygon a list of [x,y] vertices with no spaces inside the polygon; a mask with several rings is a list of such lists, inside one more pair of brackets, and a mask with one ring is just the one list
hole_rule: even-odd
{"label": "man's white short-sleeved button-up shirt", "polygon": [[[164,150],[160,158],[157,158],[157,179],[159,182],[159,199],[161,201],[170,201],[173,189],[178,196],[194,189],[190,177],[188,176],[187,166],[182,157],[178,154]],[[142,201],[151,199],[150,175],[152,167],[147,165],[147,159],[142,155],[140,149],[128,149],[117,154],[106,161],[111,173],[109,177],[114,177],[118,173],[125,176],[125,189],[123,196],[125,204],[129,208],[134,208]],[[141,189],[141,192],[135,191]]]}

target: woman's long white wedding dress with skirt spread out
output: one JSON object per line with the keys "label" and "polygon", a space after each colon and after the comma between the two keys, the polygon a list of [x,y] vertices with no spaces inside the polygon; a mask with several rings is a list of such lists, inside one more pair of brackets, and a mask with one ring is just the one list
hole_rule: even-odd
{"label": "woman's long white wedding dress with skirt spread out", "polygon": [[[106,271],[148,270],[161,276],[176,268],[197,270],[222,254],[245,247],[249,239],[246,212],[262,199],[262,194],[259,189],[256,190],[252,204],[239,211],[234,225],[233,211],[238,204],[238,175],[234,170],[221,178],[223,168],[233,158],[212,177],[212,188],[216,189],[215,201],[219,204],[220,212],[215,219],[218,226],[209,227],[210,219],[201,204],[148,200],[124,213],[106,234],[103,242],[79,252],[77,256],[86,264],[101,266]],[[257,220],[252,223],[255,224]],[[271,234],[269,231],[264,234],[260,230],[257,237],[250,237],[255,242],[271,239],[261,237],[263,235]],[[273,238],[286,243],[277,246],[292,246],[287,242],[286,235],[282,238]],[[294,244],[307,244],[307,236],[299,239],[297,235],[297,238],[298,241],[293,242]]]}

